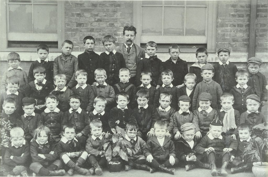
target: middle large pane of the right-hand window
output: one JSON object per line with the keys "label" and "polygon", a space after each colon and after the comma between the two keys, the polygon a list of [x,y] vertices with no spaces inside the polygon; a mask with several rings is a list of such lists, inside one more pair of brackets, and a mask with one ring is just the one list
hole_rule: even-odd
{"label": "middle large pane of the right-hand window", "polygon": [[184,35],[184,7],[164,7],[164,35]]}

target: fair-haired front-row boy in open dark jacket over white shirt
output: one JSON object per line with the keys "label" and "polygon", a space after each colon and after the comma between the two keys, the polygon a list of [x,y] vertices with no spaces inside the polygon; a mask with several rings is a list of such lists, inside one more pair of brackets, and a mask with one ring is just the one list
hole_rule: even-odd
{"label": "fair-haired front-row boy in open dark jacket over white shirt", "polygon": [[172,166],[178,164],[173,141],[165,136],[167,125],[164,121],[156,121],[154,124],[155,136],[148,139],[143,154],[147,164],[153,173],[159,168],[166,173],[174,175],[175,169]]}

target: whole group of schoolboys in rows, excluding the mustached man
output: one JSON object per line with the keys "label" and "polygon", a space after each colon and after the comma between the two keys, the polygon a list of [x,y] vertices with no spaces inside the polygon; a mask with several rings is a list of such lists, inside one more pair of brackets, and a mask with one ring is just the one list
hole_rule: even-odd
{"label": "whole group of schoolboys in rows, excluding the mustached man", "polygon": [[155,55],[157,44],[150,41],[148,58],[137,64],[136,83],[131,83],[113,36],[102,43],[106,51],[99,56],[95,39],[85,37],[85,52],[76,58],[73,43],[66,40],[54,62],[41,44],[28,77],[20,56],[8,55],[0,111],[12,129],[11,145],[1,149],[1,175],[28,175],[28,167],[41,176],[64,175],[65,170],[71,176],[74,171],[101,175],[107,163],[104,135],[117,133],[116,126],[126,131],[119,143],[133,147],[124,161],[126,171],[174,174],[180,165],[226,176],[229,161],[232,173],[251,167],[242,157],[245,144],[251,128],[267,122],[260,112],[267,101],[262,60],[249,58],[248,72],[238,71],[228,61],[228,49],[218,50],[220,61],[213,66],[207,63],[207,50],[199,48],[189,73],[178,45],[170,45],[170,59],[162,62]]}

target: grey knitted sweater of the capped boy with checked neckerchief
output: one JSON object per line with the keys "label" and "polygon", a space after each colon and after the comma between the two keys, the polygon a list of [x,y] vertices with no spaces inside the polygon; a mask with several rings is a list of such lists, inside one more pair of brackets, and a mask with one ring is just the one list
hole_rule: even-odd
{"label": "grey knitted sweater of the capped boy with checked neckerchief", "polygon": [[211,100],[211,107],[213,109],[218,109],[220,107],[221,103],[221,86],[215,82],[212,81],[210,84],[206,84],[204,81],[200,82],[199,84],[196,85],[195,87],[195,93],[193,94],[193,110],[197,109],[199,107],[199,95],[202,92],[209,93],[212,96]]}

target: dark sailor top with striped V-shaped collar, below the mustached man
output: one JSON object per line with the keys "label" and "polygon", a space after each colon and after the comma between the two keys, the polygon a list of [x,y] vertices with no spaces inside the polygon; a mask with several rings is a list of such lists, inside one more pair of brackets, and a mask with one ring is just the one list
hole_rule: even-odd
{"label": "dark sailor top with striped V-shaped collar, below the mustached man", "polygon": [[118,82],[117,84],[113,86],[113,88],[114,88],[114,92],[116,93],[116,95],[119,92],[126,92],[126,94],[128,94],[129,96],[128,107],[132,109],[136,107],[137,101],[135,100],[135,98],[136,98],[137,90],[136,90],[135,85],[131,84],[130,82],[127,82],[127,83]]}

